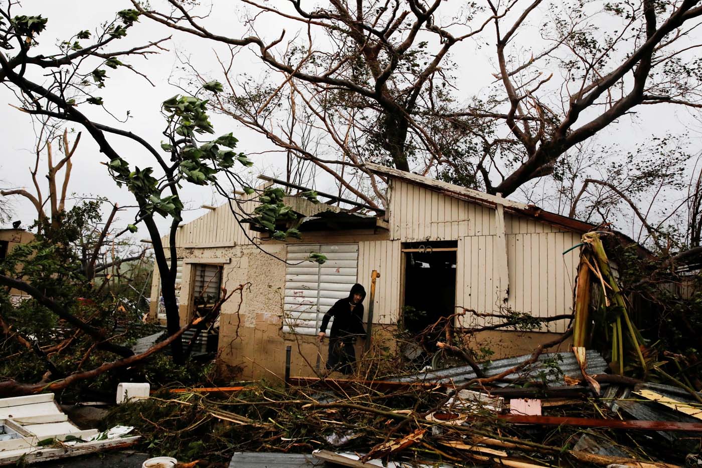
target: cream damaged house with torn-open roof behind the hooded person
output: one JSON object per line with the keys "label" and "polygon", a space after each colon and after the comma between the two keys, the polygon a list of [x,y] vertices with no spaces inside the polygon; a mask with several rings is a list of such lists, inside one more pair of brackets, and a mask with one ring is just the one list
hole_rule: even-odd
{"label": "cream damaged house with torn-open roof behind the hooded person", "polygon": [[[241,209],[225,203],[178,228],[182,323],[213,304],[220,286],[231,291],[250,283],[241,303],[239,295],[225,303],[218,321],[220,359],[241,366],[242,377],[283,375],[287,346],[293,349],[294,375],[323,368],[326,343],[320,347],[316,335],[324,312],[347,297],[354,283],[370,291],[373,270],[380,274],[373,333],[390,333],[400,321],[418,330],[461,307],[478,314],[508,309],[538,317],[571,314],[578,249],[569,249],[592,225],[420,175],[366,168],[387,181],[386,209],[329,194],[320,194],[329,200],[321,204],[289,196],[286,204],[304,217],[298,228],[302,239],[270,240],[246,224],[239,213],[253,211],[254,195],[244,196]],[[266,186],[306,190],[263,179]],[[338,202],[352,208],[339,208]],[[307,260],[313,252],[327,261]],[[152,297],[160,297],[155,270]],[[366,316],[369,300],[370,295]],[[153,304],[152,316],[164,321]],[[501,321],[478,314],[457,317],[455,325]],[[524,354],[563,333],[568,323],[552,321],[541,332],[484,331],[476,335],[476,346],[490,347],[494,357]]]}

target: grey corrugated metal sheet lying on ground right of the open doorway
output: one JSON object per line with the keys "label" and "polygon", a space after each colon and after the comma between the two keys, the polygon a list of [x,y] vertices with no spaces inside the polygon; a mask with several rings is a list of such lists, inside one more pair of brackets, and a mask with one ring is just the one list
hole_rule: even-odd
{"label": "grey corrugated metal sheet lying on ground right of the open doorway", "polygon": [[[512,379],[524,375],[529,375],[530,377],[534,378],[537,377],[538,373],[543,370],[545,372],[545,376],[548,380],[549,386],[563,385],[564,382],[562,375],[549,372],[550,369],[548,368],[548,366],[545,366],[543,364],[543,361],[554,359],[558,355],[560,355],[560,358],[562,360],[559,359],[557,361],[557,364],[563,375],[581,375],[580,367],[578,366],[578,362],[576,361],[574,354],[571,352],[562,352],[541,354],[541,356],[538,357],[538,361],[536,363],[531,364],[531,366],[528,366],[525,369],[522,369],[519,373],[512,373],[505,378]],[[488,366],[484,366],[485,375],[489,377],[491,375],[498,375],[500,373],[503,373],[505,370],[508,370],[512,367],[517,366],[519,363],[526,361],[527,359],[529,359],[530,356],[531,354],[525,354],[524,356],[517,356],[508,359],[498,359],[497,361],[492,361]],[[604,359],[602,359],[602,356],[600,356],[600,354],[597,353],[597,351],[589,349],[587,352],[587,358],[588,367],[586,370],[588,374],[601,374],[604,373],[605,369],[607,369],[607,362],[605,362]],[[472,368],[470,368],[470,366],[458,366],[427,373],[409,375],[406,377],[399,377],[399,379],[397,380],[399,380],[399,382],[414,382],[417,380],[421,380],[425,382],[453,382],[455,384],[461,384],[463,382],[467,382],[468,380],[475,379],[475,377],[475,372],[472,370]],[[497,385],[501,384],[498,383]]]}

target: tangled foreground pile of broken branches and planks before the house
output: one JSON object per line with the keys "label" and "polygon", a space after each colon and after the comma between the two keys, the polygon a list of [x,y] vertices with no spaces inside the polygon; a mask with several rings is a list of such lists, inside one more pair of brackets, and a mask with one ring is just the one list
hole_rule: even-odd
{"label": "tangled foreground pile of broken branches and planks before the house", "polygon": [[[484,373],[503,377],[486,385],[459,367],[395,380],[291,377],[286,389],[257,382],[164,392],[122,405],[112,417],[140,426],[145,443],[179,460],[249,452],[300,453],[351,467],[663,468],[698,460],[701,403],[651,383],[598,382],[595,394],[582,370],[592,378],[605,364],[587,356],[582,369],[571,352],[527,366],[532,356],[495,361]],[[567,371],[549,364],[557,371],[544,373],[549,360]]]}

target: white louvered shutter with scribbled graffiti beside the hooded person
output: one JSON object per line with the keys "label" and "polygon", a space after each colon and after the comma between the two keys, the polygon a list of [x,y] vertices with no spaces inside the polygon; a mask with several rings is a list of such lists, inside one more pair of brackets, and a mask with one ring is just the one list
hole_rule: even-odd
{"label": "white louvered shutter with scribbled graffiti beside the hooded person", "polygon": [[[313,252],[325,255],[326,262],[319,265],[305,260]],[[334,302],[348,297],[357,281],[358,244],[288,246],[287,260],[299,265],[286,269],[283,331],[317,335],[324,313]]]}

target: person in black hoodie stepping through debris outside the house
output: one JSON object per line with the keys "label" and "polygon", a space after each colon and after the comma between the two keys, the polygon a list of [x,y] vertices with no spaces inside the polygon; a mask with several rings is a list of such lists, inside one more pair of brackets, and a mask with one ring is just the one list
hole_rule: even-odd
{"label": "person in black hoodie stepping through debris outside the house", "polygon": [[356,362],[356,352],[353,346],[355,338],[366,336],[366,330],[363,328],[363,300],[365,297],[366,290],[362,285],[356,283],[351,288],[349,297],[336,301],[331,309],[324,314],[322,326],[319,328],[320,342],[326,336],[329,319],[334,318],[329,337],[329,359],[326,360],[326,369],[329,372],[332,370],[338,370],[343,374],[353,372],[353,363]]}

